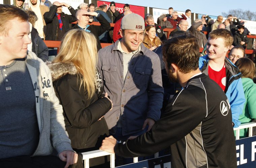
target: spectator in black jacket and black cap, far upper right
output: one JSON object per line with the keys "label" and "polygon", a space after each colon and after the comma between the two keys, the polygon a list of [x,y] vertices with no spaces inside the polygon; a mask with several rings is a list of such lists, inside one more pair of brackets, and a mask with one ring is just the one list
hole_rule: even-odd
{"label": "spectator in black jacket and black cap, far upper right", "polygon": [[242,25],[237,26],[238,32],[234,35],[233,46],[241,45],[246,49],[246,44],[249,42],[247,35],[244,33],[245,27]]}

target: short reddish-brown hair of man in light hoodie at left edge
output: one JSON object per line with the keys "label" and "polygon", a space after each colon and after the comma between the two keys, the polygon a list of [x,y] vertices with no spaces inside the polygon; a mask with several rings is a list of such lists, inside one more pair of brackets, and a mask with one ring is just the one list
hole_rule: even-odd
{"label": "short reddish-brown hair of man in light hoodie at left edge", "polygon": [[0,34],[8,35],[10,20],[19,19],[21,22],[26,22],[28,18],[28,14],[22,9],[13,5],[0,4]]}

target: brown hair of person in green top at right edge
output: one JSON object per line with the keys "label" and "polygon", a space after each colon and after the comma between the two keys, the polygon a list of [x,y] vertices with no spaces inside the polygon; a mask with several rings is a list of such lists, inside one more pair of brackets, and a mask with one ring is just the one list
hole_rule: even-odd
{"label": "brown hair of person in green top at right edge", "polygon": [[235,62],[235,66],[240,70],[243,77],[242,78],[250,78],[253,79],[255,75],[255,67],[253,61],[249,58],[243,57],[239,58]]}

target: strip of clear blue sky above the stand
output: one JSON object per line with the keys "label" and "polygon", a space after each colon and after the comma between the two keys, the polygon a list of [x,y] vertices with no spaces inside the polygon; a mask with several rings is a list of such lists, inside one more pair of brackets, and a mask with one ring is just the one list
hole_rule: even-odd
{"label": "strip of clear blue sky above the stand", "polygon": [[[105,0],[111,1],[111,0]],[[221,12],[228,12],[230,9],[241,8],[256,12],[256,0],[114,0],[117,3],[128,3],[138,6],[149,6],[160,9],[173,7],[177,11],[190,9],[198,14],[208,14],[213,16],[221,15]],[[242,2],[242,3],[239,3]]]}

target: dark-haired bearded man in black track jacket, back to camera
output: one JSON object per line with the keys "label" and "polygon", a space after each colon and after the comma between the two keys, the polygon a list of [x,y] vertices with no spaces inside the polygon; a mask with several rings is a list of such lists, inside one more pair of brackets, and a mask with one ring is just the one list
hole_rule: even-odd
{"label": "dark-haired bearded man in black track jacket, back to camera", "polygon": [[169,78],[184,88],[169,100],[152,129],[116,144],[105,138],[100,149],[123,157],[148,156],[171,145],[171,167],[236,167],[228,99],[217,83],[198,69],[196,38],[173,37],[163,45]]}

